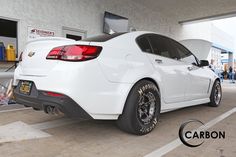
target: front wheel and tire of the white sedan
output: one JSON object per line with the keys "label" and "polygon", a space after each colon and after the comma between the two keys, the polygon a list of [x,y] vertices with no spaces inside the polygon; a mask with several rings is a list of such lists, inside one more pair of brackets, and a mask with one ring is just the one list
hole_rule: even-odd
{"label": "front wheel and tire of the white sedan", "polygon": [[208,104],[211,107],[218,107],[222,99],[222,88],[219,80],[216,80],[210,96],[210,103]]}

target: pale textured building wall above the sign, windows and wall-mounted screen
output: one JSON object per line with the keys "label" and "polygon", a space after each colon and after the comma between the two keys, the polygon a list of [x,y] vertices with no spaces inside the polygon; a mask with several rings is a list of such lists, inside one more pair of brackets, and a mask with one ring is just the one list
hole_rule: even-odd
{"label": "pale textured building wall above the sign, windows and wall-mounted screen", "polygon": [[28,26],[55,31],[56,36],[62,36],[63,26],[93,36],[102,33],[104,11],[129,18],[137,30],[175,37],[180,29],[171,17],[131,0],[1,0],[0,6],[1,17],[19,20],[19,52],[26,44]]}

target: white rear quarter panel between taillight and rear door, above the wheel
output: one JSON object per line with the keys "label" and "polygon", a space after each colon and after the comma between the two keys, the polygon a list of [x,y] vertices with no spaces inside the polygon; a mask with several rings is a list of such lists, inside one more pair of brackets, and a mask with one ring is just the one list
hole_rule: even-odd
{"label": "white rear quarter panel between taillight and rear door, above the wheel", "polygon": [[103,47],[98,61],[110,82],[134,84],[138,79],[153,74],[150,61],[136,44],[137,36],[127,34],[104,43],[91,43]]}

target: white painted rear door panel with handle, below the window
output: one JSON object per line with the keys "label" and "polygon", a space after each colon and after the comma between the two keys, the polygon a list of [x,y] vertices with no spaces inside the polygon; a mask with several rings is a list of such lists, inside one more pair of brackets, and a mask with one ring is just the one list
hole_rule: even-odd
{"label": "white painted rear door panel with handle, below the window", "polygon": [[187,82],[189,82],[186,66],[166,57],[147,55],[155,67],[157,75],[161,76],[164,87],[162,97],[165,103],[184,101]]}

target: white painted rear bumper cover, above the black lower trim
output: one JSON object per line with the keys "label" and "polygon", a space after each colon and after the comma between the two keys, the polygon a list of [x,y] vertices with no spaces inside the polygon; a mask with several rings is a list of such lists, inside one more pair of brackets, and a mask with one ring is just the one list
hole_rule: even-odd
{"label": "white painted rear bumper cover, above the black lower trim", "polygon": [[98,120],[118,119],[133,86],[108,81],[97,60],[59,61],[47,74],[34,75],[37,72],[38,69],[34,68],[29,71],[21,62],[15,70],[13,85],[17,86],[21,80],[29,80],[35,83],[38,91],[62,93]]}

